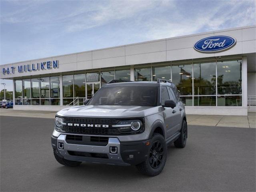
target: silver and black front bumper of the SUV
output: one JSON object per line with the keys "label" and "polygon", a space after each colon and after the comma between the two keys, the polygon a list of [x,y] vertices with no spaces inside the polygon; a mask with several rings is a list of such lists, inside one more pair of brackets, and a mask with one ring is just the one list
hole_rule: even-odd
{"label": "silver and black front bumper of the SUV", "polygon": [[129,166],[146,160],[148,141],[120,142],[118,138],[110,137],[106,146],[70,144],[66,142],[66,134],[60,134],[58,138],[52,136],[52,148],[58,156],[70,161]]}

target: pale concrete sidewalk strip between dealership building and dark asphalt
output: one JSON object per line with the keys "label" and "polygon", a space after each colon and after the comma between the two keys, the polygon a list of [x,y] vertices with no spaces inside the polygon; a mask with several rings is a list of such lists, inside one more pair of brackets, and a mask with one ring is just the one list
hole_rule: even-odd
{"label": "pale concrete sidewalk strip between dealership building and dark asphalt", "polygon": [[[56,112],[0,109],[0,116],[54,118]],[[256,113],[248,116],[187,115],[188,125],[256,128]]]}

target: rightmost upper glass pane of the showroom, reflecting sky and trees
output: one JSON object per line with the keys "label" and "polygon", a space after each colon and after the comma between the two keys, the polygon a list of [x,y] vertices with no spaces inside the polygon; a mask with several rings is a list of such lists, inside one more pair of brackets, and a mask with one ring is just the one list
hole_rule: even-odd
{"label": "rightmost upper glass pane of the showroom, reflecting sky and trees", "polygon": [[217,62],[218,94],[242,94],[242,62]]}

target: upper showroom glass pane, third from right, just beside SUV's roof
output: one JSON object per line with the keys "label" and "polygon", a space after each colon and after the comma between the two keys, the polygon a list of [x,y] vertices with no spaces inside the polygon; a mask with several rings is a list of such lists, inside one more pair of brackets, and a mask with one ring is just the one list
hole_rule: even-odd
{"label": "upper showroom glass pane, third from right, just beside SUV's roof", "polygon": [[172,82],[180,95],[192,95],[192,64],[172,66]]}

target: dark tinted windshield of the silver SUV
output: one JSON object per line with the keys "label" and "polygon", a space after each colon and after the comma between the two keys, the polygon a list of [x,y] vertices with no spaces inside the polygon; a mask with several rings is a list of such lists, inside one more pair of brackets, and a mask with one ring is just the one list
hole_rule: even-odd
{"label": "dark tinted windshield of the silver SUV", "polygon": [[102,87],[96,92],[88,105],[157,106],[158,87]]}

